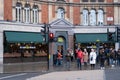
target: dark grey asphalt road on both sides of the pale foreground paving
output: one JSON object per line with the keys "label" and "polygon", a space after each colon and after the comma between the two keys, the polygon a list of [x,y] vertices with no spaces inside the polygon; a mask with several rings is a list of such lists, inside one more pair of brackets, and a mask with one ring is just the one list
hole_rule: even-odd
{"label": "dark grey asphalt road on both sides of the pale foreground paving", "polygon": [[[82,71],[86,71],[86,70],[82,70]],[[65,72],[65,71],[63,71],[63,72]],[[0,80],[27,80],[29,78],[44,75],[46,73],[48,73],[48,72],[6,73],[6,74],[0,74]],[[86,74],[87,74],[87,72],[86,72]],[[105,69],[104,75],[105,75],[105,80],[120,80],[120,69],[118,69],[118,68]]]}

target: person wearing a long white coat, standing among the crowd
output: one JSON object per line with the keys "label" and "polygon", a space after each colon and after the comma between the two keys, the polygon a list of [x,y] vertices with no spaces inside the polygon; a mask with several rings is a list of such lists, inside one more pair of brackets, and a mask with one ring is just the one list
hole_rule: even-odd
{"label": "person wearing a long white coat, standing among the crowd", "polygon": [[91,65],[91,69],[95,69],[95,64],[96,64],[96,52],[94,49],[91,49],[91,52],[90,52],[90,65]]}

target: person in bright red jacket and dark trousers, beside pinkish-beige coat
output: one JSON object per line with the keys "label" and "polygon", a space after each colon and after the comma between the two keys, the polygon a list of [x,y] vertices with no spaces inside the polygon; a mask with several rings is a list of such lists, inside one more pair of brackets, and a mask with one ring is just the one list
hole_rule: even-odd
{"label": "person in bright red jacket and dark trousers, beside pinkish-beige coat", "polygon": [[82,64],[81,64],[81,60],[83,58],[83,52],[81,49],[76,50],[76,54],[77,54],[77,68],[78,69],[82,69]]}

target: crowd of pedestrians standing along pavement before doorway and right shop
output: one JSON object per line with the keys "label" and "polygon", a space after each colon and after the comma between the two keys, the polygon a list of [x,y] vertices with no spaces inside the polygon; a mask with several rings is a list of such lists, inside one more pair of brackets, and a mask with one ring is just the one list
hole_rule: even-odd
{"label": "crowd of pedestrians standing along pavement before doorway and right shop", "polygon": [[96,49],[91,49],[89,52],[87,49],[68,49],[63,55],[58,50],[54,55],[54,65],[61,66],[63,59],[66,63],[66,68],[70,70],[71,62],[76,61],[78,69],[88,69],[88,65],[93,70],[96,65],[99,65],[100,69],[120,67],[120,49],[116,51],[114,48],[100,48],[99,53]]}

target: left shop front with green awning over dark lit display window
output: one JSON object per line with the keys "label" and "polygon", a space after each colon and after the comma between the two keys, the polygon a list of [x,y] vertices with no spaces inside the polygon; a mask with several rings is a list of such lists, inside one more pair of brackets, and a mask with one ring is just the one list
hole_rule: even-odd
{"label": "left shop front with green awning over dark lit display window", "polygon": [[4,31],[3,63],[47,62],[47,54],[40,33]]}

